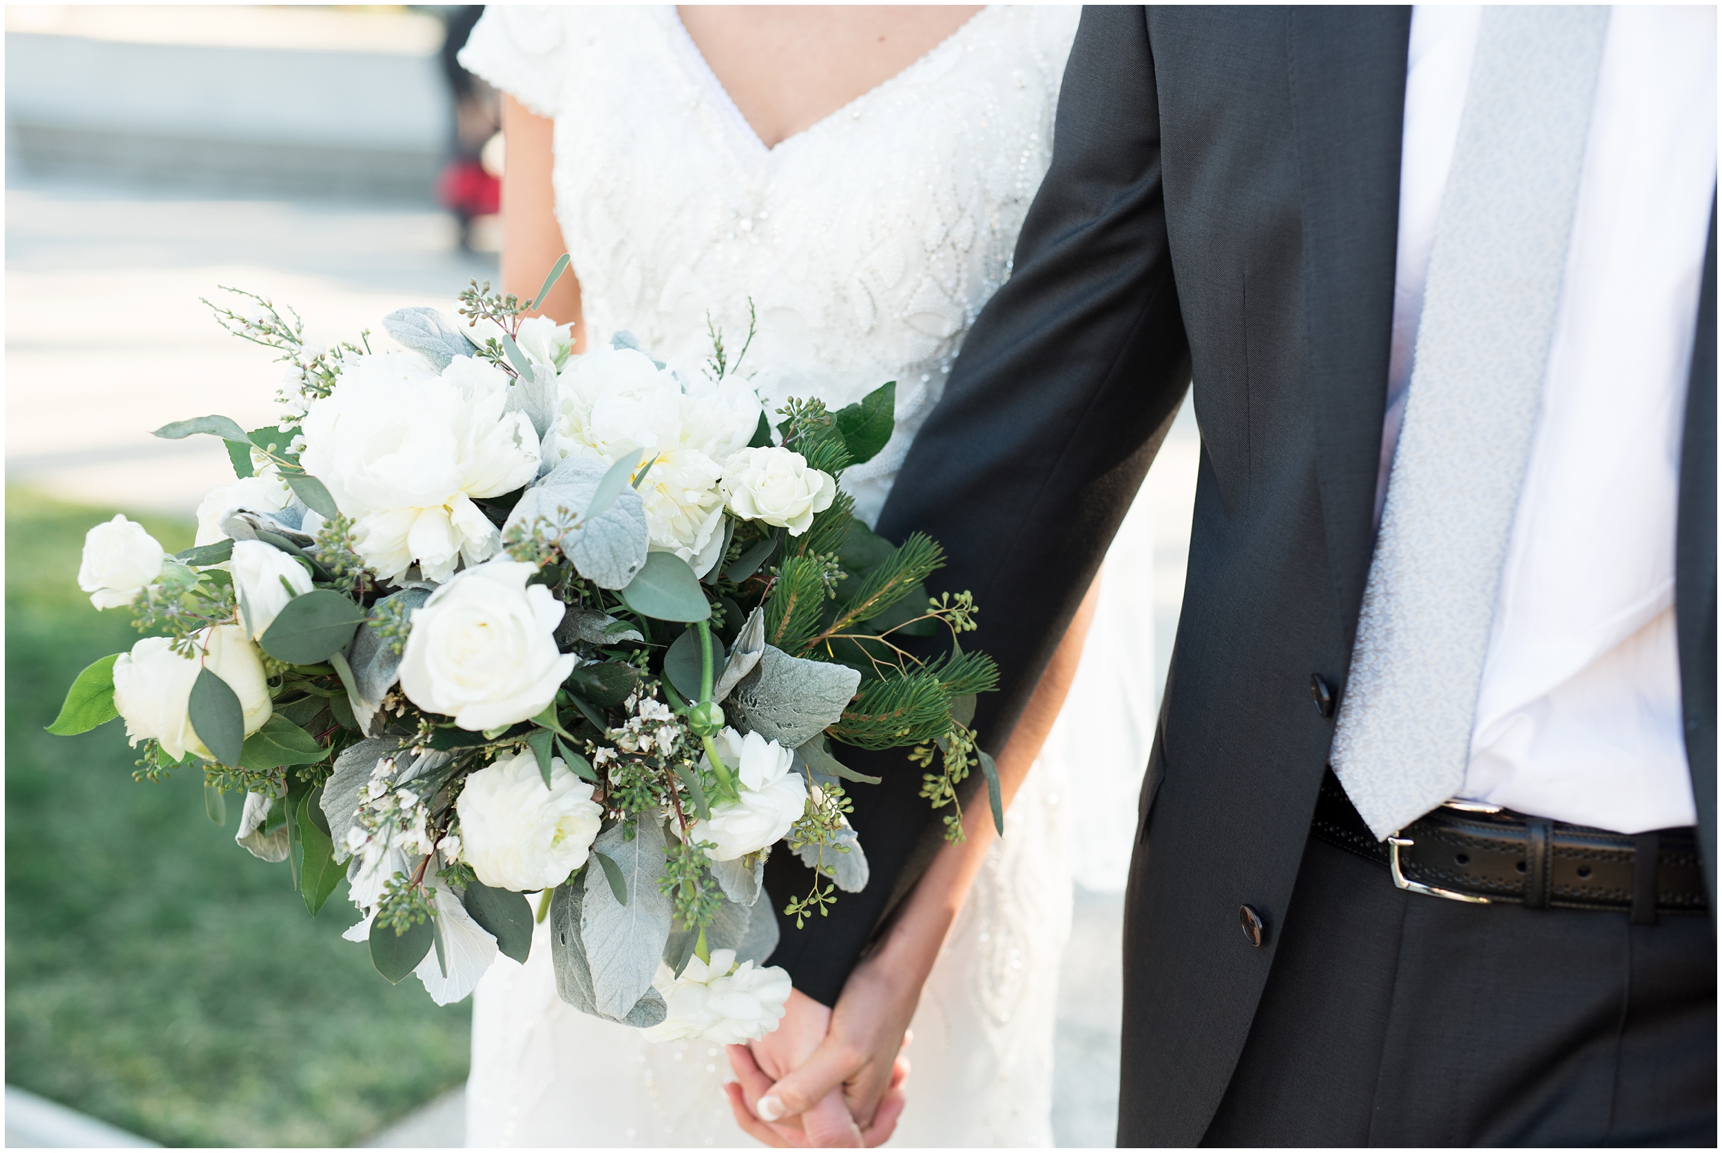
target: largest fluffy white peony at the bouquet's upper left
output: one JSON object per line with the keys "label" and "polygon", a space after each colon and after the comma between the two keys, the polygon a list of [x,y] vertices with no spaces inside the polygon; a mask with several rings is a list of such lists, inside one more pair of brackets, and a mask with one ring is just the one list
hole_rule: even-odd
{"label": "largest fluffy white peony at the bouquet's upper left", "polygon": [[525,413],[503,411],[508,375],[472,356],[441,373],[412,353],[355,356],[305,413],[300,463],[356,521],[358,554],[384,580],[417,563],[448,580],[501,549],[474,497],[520,489],[539,466]]}

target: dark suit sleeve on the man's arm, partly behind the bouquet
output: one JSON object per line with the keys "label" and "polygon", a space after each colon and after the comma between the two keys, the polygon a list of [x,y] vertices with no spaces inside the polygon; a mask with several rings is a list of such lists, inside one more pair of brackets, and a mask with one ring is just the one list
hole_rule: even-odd
{"label": "dark suit sleeve on the man's arm, partly behind the bouquet", "polygon": [[[999,661],[975,730],[997,752],[1057,647],[1188,384],[1161,194],[1159,102],[1140,7],[1088,7],[1064,71],[1052,165],[1018,237],[1011,279],[969,332],[916,435],[878,530],[925,532],[949,564],[932,592],[971,590],[963,638]],[[784,921],[771,964],[833,1003],[849,971],[938,847],[906,750],[837,749],[882,776],[854,785],[871,879],[828,917]],[[968,783],[975,800],[978,778]],[[985,804],[980,800],[980,804]],[[777,905],[813,876],[771,857]]]}

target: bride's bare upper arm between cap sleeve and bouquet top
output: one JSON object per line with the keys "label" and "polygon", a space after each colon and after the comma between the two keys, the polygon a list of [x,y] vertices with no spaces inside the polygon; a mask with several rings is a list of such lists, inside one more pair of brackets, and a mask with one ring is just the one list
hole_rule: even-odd
{"label": "bride's bare upper arm between cap sleeve and bouquet top", "polygon": [[[503,291],[522,299],[544,284],[551,265],[568,251],[556,224],[556,189],[551,184],[554,122],[532,115],[513,96],[503,96]],[[573,351],[585,351],[580,317],[580,282],[568,268],[539,311],[558,324],[573,324]]]}

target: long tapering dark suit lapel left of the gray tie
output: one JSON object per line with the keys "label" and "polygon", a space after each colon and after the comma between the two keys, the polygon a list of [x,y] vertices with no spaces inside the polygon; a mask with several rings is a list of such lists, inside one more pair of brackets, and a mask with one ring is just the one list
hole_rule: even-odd
{"label": "long tapering dark suit lapel left of the gray tie", "polygon": [[1409,7],[1290,10],[1309,385],[1347,661],[1374,547],[1409,43]]}

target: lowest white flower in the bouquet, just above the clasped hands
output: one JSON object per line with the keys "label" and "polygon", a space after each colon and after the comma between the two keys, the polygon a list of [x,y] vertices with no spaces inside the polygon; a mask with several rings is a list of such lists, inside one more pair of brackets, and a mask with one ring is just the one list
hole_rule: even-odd
{"label": "lowest white flower in the bouquet, just above the clasped hands", "polygon": [[711,1041],[744,1045],[777,1029],[789,1000],[789,974],[777,965],[735,964],[734,948],[711,950],[711,964],[689,957],[677,977],[658,967],[653,988],[670,1007],[660,1024],[646,1029],[647,1041]]}

